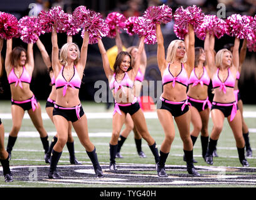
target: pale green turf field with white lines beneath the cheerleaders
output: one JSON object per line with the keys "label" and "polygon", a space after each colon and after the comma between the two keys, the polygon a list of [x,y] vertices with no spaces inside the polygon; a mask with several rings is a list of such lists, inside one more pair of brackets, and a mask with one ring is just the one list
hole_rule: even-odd
{"label": "pale green turf field with white lines beneath the cheerleaders", "polygon": [[[42,108],[42,114],[46,114],[45,112],[45,101],[40,101],[41,108]],[[96,103],[90,103],[90,102],[82,102],[83,110],[85,111],[85,114],[87,113],[105,113],[109,112],[112,113],[112,108],[110,108],[109,111],[105,109],[105,104],[96,104]],[[250,106],[250,105],[244,105],[244,111],[253,111],[256,112],[256,106]],[[3,118],[3,114],[10,114],[11,113],[11,103],[10,101],[1,101],[0,103],[0,118],[3,121],[4,129],[5,129],[5,146],[8,142],[8,133],[11,131],[12,121],[11,119]],[[101,114],[98,115],[99,117]],[[250,167],[255,168],[256,167],[256,118],[245,118],[245,121],[248,125],[248,128],[252,130],[250,132],[250,144],[253,150],[253,158],[248,158],[248,162],[250,163]],[[158,119],[146,119],[147,127],[149,129],[149,133],[151,136],[156,140],[156,144],[158,146],[158,149],[160,149],[161,143],[164,139],[164,133],[163,128],[161,127],[161,124],[159,123]],[[55,126],[51,123],[50,119],[43,119],[43,124],[45,126],[46,131],[49,133],[55,132]],[[209,132],[211,131],[212,123],[210,119],[209,124]],[[191,126],[192,129],[192,126]],[[36,131],[35,127],[31,123],[30,119],[23,119],[23,124],[21,126],[21,132],[28,132],[28,131]],[[88,131],[89,133],[111,133],[112,132],[112,119],[90,119],[88,118]],[[74,130],[73,130],[74,132]],[[253,133],[254,132],[254,133]],[[53,138],[53,136],[49,136],[50,140]],[[82,144],[78,141],[78,138],[74,136],[75,139],[75,151],[76,151],[76,157],[78,161],[82,161],[83,165],[89,165],[92,166],[90,163],[90,159],[88,158],[87,154],[85,153],[85,149],[83,148]],[[109,141],[110,136],[100,136],[100,137],[91,137],[90,138],[92,143],[97,148],[97,154],[99,158],[99,162],[102,166],[107,166],[109,164]],[[223,127],[223,131],[221,133],[220,139],[218,140],[217,145],[217,153],[219,155],[218,158],[214,158],[214,164],[213,166],[224,166],[224,167],[242,167],[240,162],[238,161],[238,153],[237,148],[235,146],[235,139],[233,137],[232,131],[230,127],[228,126],[227,119],[225,119],[225,125]],[[147,158],[139,158],[136,151],[136,146],[134,143],[133,133],[130,134],[130,136],[127,138],[127,140],[124,143],[124,146],[122,146],[122,156],[124,156],[123,159],[116,159],[117,166],[119,164],[139,164],[143,166],[143,164],[154,164],[154,158],[152,156],[152,153],[150,149],[148,148],[146,141],[142,140],[142,150],[147,155]],[[24,138],[19,137],[16,141],[16,144],[14,146],[13,152],[12,152],[12,159],[10,161],[11,168],[14,166],[46,166],[45,161],[43,159],[44,153],[43,153],[43,146],[41,144],[41,140],[38,137],[36,138]],[[194,156],[196,161],[198,163],[195,164],[196,166],[208,166],[203,158],[201,157],[201,141],[200,137],[198,138],[198,141],[196,141],[195,148],[194,148]],[[67,166],[69,165],[69,155],[67,151],[67,147],[63,149],[63,154],[61,155],[60,162],[58,163],[58,166]],[[185,166],[185,163],[183,161],[183,144],[179,137],[178,129],[176,129],[176,135],[174,142],[171,146],[171,151],[168,156],[168,160],[166,161],[166,166]],[[57,168],[58,169],[58,168]],[[2,173],[2,172],[1,172]],[[156,175],[156,171],[134,171],[136,174],[152,174]],[[175,175],[175,171],[168,171],[170,174]],[[186,171],[179,171],[179,174],[188,174]],[[200,172],[202,175],[207,176],[208,172]],[[15,173],[14,173],[15,174]],[[228,174],[228,173],[227,173]],[[239,174],[239,173],[238,173]],[[244,172],[243,174],[247,174]],[[255,181],[255,173],[253,173],[253,179]],[[250,175],[250,173],[249,173]],[[47,179],[47,177],[45,177]],[[161,178],[159,178],[161,179]],[[0,187],[142,187],[141,185],[129,185],[129,184],[80,184],[80,183],[51,183],[51,182],[41,182],[41,181],[20,181],[16,180],[16,177],[14,176],[14,182],[13,183],[4,183],[4,177],[0,176]],[[255,187],[255,184],[202,184],[200,187]],[[164,187],[164,186],[158,186],[156,185],[144,185],[143,187]],[[170,187],[170,186],[166,186]],[[172,187],[193,187],[193,186],[172,186]],[[195,186],[196,187],[196,186]]]}

